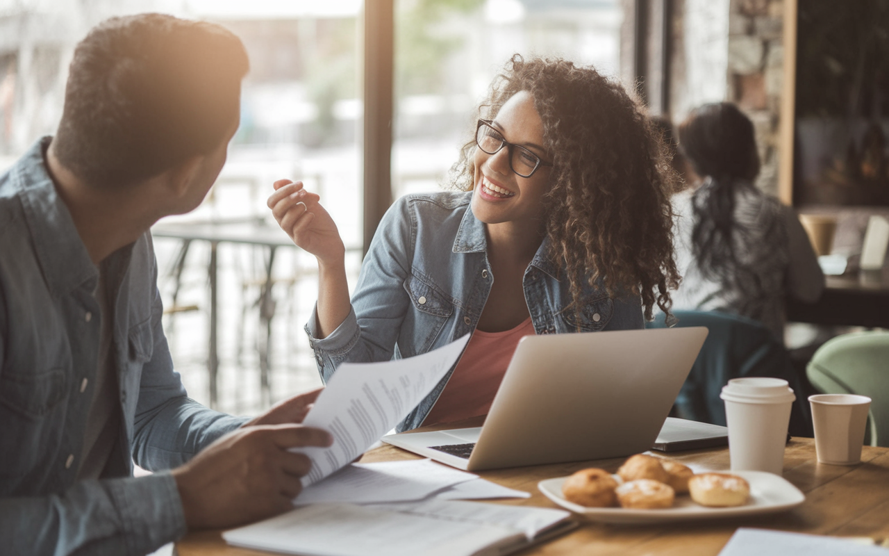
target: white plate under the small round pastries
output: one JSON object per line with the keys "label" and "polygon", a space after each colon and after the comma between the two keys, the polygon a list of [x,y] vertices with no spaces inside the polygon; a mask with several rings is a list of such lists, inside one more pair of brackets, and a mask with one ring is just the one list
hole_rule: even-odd
{"label": "white plate under the small round pastries", "polygon": [[625,508],[588,508],[574,504],[562,496],[562,483],[567,477],[545,479],[537,483],[544,496],[566,510],[579,513],[594,521],[605,523],[656,523],[681,520],[712,520],[760,513],[782,512],[802,504],[805,495],[786,479],[765,471],[732,471],[747,479],[750,484],[750,500],[743,506],[708,508],[692,501],[688,495],[676,497],[672,508],[663,510],[630,510]]}

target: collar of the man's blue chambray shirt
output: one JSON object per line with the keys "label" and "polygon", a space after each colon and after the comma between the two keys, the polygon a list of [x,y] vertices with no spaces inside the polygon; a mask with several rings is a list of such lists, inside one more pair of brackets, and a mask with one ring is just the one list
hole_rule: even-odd
{"label": "collar of the man's blue chambray shirt", "polygon": [[52,295],[60,298],[89,282],[96,286],[99,270],[81,241],[74,220],[52,183],[44,152],[52,137],[44,137],[12,169],[20,191],[22,212],[34,239],[34,250]]}

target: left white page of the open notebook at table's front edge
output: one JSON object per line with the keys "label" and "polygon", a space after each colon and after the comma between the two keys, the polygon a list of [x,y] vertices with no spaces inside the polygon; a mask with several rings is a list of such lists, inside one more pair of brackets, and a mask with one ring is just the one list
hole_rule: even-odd
{"label": "left white page of the open notebook at table's front edge", "polygon": [[222,538],[228,544],[302,556],[469,556],[521,535],[512,528],[385,507],[312,504],[225,531]]}

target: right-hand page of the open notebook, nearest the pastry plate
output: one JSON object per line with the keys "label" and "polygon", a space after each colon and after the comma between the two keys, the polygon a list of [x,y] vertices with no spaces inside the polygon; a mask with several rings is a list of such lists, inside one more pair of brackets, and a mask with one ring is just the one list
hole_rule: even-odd
{"label": "right-hand page of the open notebook, nearest the pastry plate", "polygon": [[533,539],[542,530],[552,527],[571,515],[571,512],[549,508],[507,506],[458,500],[436,500],[435,498],[421,502],[372,504],[366,507],[427,516],[440,520],[466,520],[486,523],[522,531],[528,539]]}

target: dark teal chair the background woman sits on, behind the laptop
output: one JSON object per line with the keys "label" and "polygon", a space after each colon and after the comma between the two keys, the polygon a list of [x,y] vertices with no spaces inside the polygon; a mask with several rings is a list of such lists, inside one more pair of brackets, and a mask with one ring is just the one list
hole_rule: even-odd
{"label": "dark teal chair the background woman sits on, behind the laptop", "polygon": [[[721,311],[675,310],[676,326],[706,326],[709,330],[698,358],[671,415],[725,425],[725,402],[719,398],[730,379],[747,376],[772,376],[786,380],[797,394],[790,412],[789,432],[793,436],[812,437],[812,414],[808,391],[774,334],[762,323]],[[647,328],[666,326],[661,313]]]}

